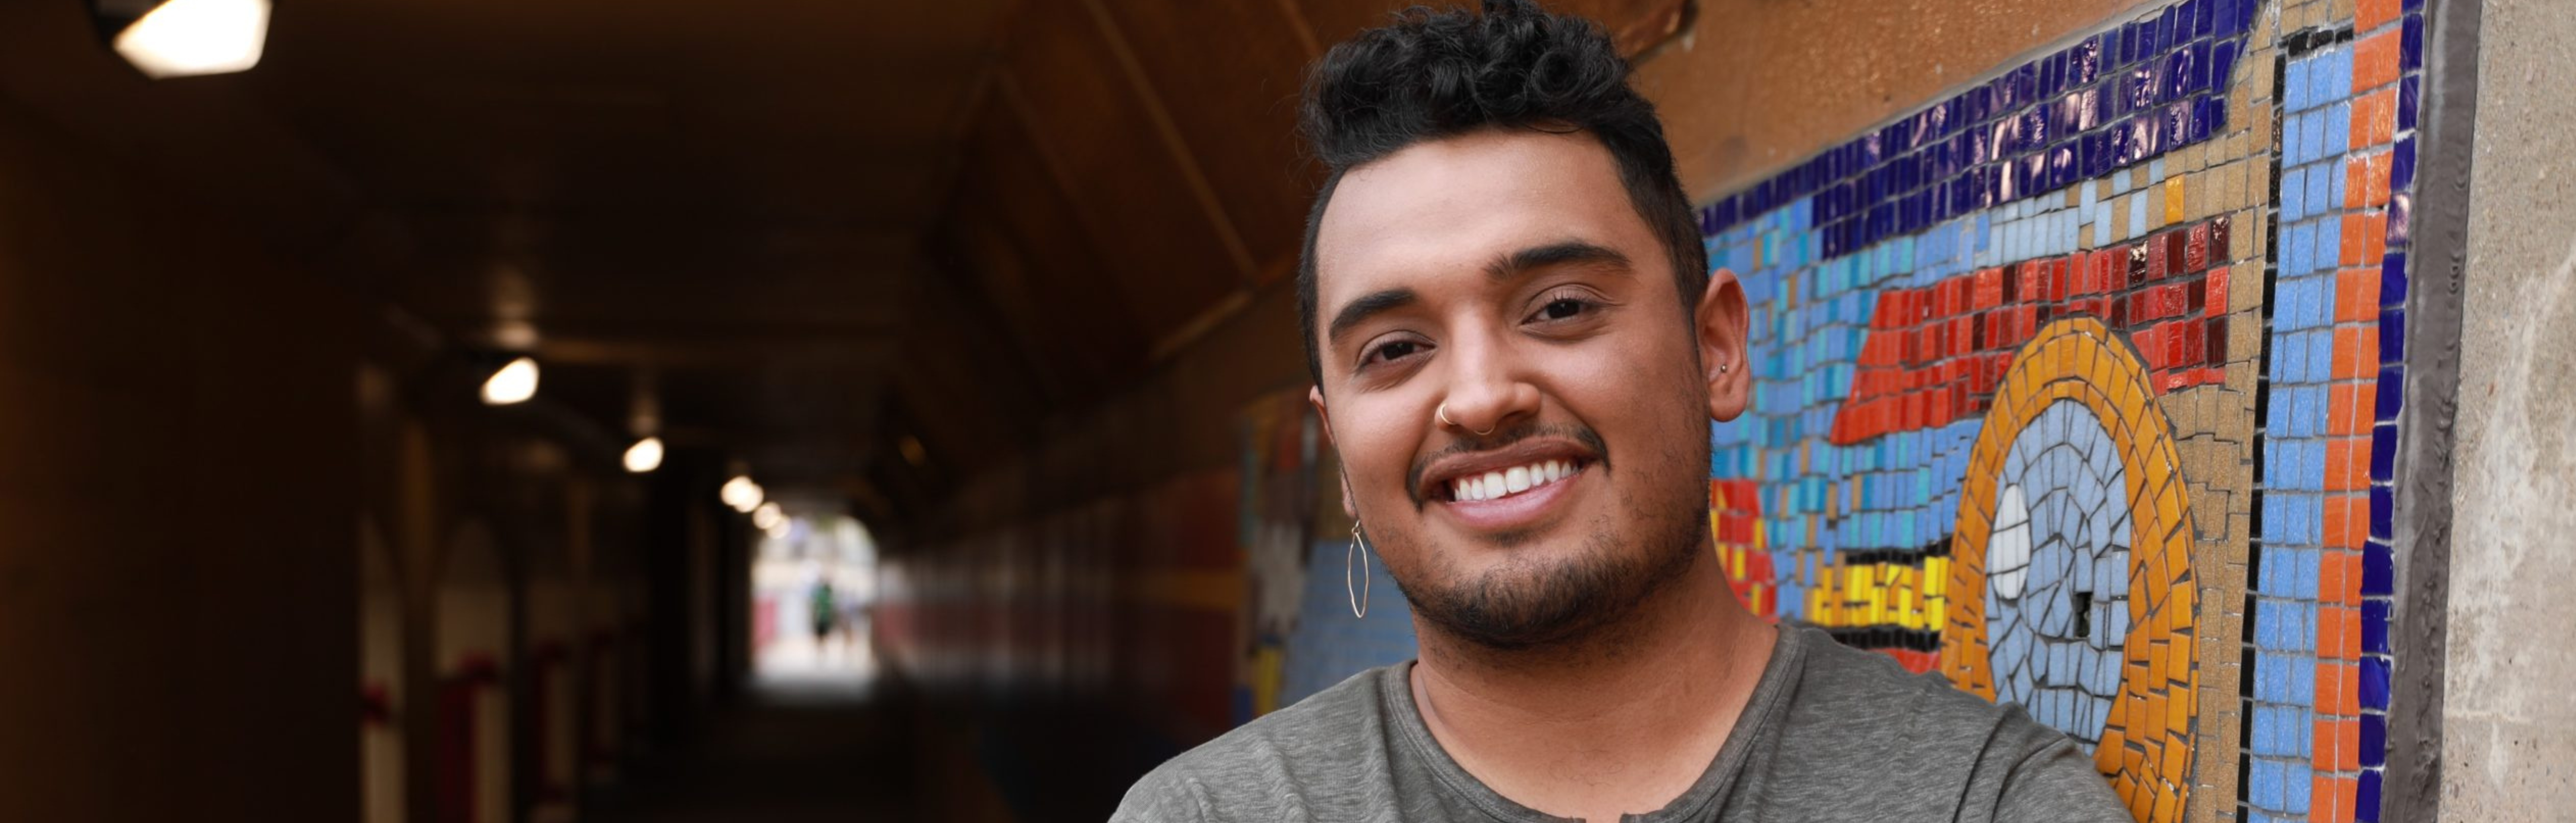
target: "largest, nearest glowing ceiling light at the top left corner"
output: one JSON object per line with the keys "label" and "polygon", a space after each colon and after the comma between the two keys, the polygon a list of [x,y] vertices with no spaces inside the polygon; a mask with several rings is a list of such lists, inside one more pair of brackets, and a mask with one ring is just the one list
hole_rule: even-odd
{"label": "largest, nearest glowing ceiling light at the top left corner", "polygon": [[152,80],[242,72],[268,46],[268,0],[90,0],[90,21]]}

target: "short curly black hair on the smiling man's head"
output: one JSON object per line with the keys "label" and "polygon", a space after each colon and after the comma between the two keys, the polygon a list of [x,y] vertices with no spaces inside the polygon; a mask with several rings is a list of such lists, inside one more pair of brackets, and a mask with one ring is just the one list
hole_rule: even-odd
{"label": "short curly black hair on the smiling man's head", "polygon": [[1484,129],[1574,129],[1600,139],[1636,214],[1664,240],[1682,317],[1690,317],[1708,286],[1708,248],[1672,170],[1664,124],[1654,103],[1628,88],[1628,59],[1610,36],[1533,0],[1484,0],[1484,15],[1414,5],[1391,26],[1332,46],[1306,72],[1298,132],[1327,175],[1306,212],[1296,302],[1316,384],[1324,361],[1314,328],[1314,232],[1342,173],[1417,142]]}

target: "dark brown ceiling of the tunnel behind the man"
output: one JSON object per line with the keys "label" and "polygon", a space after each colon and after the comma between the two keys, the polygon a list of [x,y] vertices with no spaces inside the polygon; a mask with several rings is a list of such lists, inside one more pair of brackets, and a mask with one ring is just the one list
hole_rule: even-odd
{"label": "dark brown ceiling of the tunnel behind the man", "polygon": [[[894,508],[1283,281],[1298,75],[1401,5],[278,3],[258,70],[147,83],[49,3],[0,70],[611,433],[647,382],[672,444]],[[1636,52],[1685,0],[1558,5]]]}

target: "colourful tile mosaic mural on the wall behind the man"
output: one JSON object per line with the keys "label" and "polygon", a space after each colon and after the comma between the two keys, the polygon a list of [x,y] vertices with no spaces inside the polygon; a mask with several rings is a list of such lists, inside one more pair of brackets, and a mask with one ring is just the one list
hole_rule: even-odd
{"label": "colourful tile mosaic mural on the wall behind the man", "polygon": [[1705,206],[1747,606],[2022,704],[2141,820],[2378,820],[2421,36],[2156,5]]}

